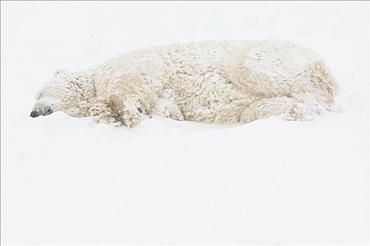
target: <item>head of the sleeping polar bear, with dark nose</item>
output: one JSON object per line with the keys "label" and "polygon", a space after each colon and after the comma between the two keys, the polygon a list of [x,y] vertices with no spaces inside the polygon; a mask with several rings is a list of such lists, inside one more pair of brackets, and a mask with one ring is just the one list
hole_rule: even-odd
{"label": "head of the sleeping polar bear, with dark nose", "polygon": [[74,117],[89,116],[91,83],[87,77],[65,70],[56,70],[36,94],[30,117],[63,111]]}

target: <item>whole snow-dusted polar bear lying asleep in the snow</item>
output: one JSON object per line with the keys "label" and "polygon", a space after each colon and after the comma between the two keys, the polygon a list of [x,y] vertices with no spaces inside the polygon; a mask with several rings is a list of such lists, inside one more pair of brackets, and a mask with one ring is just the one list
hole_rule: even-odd
{"label": "whole snow-dusted polar bear lying asleep in the snow", "polygon": [[134,127],[143,117],[238,124],[331,110],[336,81],[312,51],[288,41],[199,41],[153,46],[87,70],[57,70],[31,117],[73,117]]}

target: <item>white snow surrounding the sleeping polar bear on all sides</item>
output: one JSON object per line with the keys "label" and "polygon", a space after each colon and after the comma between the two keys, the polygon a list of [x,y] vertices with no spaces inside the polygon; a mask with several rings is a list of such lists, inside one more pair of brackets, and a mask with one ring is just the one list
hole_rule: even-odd
{"label": "white snow surrounding the sleeping polar bear on all sides", "polygon": [[[135,129],[29,117],[56,68],[205,39],[286,39],[341,91],[312,122]],[[369,242],[369,2],[1,2],[2,244]]]}

